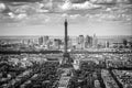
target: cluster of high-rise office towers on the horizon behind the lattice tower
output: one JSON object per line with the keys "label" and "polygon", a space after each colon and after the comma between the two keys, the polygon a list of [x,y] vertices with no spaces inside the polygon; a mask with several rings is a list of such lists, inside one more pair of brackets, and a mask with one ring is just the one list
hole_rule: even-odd
{"label": "cluster of high-rise office towers on the horizon behind the lattice tower", "polygon": [[[85,50],[85,48],[96,48],[98,46],[97,36],[79,35],[79,36],[67,36],[67,50]],[[65,41],[63,37],[52,37],[52,36],[40,36],[38,45],[41,47],[63,50],[65,48]]]}

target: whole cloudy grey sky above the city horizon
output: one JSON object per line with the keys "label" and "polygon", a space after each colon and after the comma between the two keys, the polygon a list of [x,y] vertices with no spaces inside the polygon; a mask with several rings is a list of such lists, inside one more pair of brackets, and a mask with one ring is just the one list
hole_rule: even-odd
{"label": "whole cloudy grey sky above the city horizon", "polygon": [[0,0],[0,35],[132,35],[131,0]]}

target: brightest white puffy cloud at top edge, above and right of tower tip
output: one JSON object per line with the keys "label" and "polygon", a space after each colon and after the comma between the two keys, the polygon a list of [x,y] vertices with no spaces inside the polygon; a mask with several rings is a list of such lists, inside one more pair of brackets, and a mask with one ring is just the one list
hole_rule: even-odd
{"label": "brightest white puffy cloud at top edge, above and right of tower tip", "polygon": [[65,3],[59,8],[62,10],[85,10],[85,9],[100,8],[100,6],[92,4],[89,1],[86,1],[84,3],[72,3],[69,0],[66,0]]}

